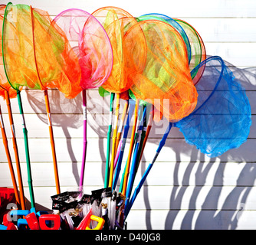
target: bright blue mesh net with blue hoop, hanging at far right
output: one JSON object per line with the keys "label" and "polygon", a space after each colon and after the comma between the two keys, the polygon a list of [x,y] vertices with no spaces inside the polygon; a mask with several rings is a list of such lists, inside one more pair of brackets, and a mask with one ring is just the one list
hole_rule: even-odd
{"label": "bright blue mesh net with blue hoop, hanging at far right", "polygon": [[240,80],[221,57],[209,57],[195,67],[195,72],[198,69],[204,71],[195,86],[199,93],[197,106],[173,126],[180,129],[186,142],[209,157],[217,157],[246,141],[251,106]]}

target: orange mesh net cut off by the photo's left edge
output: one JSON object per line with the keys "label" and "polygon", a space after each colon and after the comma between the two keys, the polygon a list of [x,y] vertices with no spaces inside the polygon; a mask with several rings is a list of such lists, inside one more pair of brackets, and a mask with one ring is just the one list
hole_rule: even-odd
{"label": "orange mesh net cut off by the photo's left edge", "polygon": [[[0,5],[0,44],[2,45],[2,24],[5,15],[6,5]],[[17,96],[16,90],[14,90],[8,83],[7,77],[5,76],[5,69],[2,60],[2,46],[0,48],[0,96],[5,100],[5,91],[8,91],[10,98],[15,98]]]}

